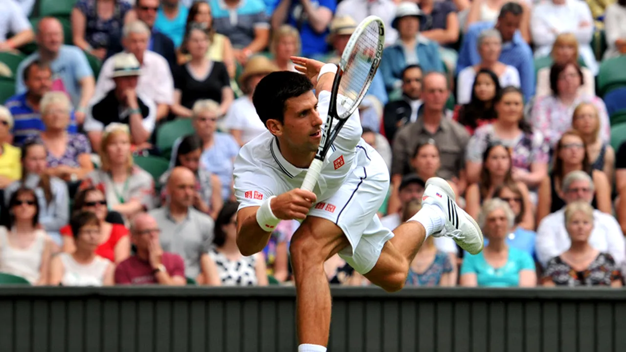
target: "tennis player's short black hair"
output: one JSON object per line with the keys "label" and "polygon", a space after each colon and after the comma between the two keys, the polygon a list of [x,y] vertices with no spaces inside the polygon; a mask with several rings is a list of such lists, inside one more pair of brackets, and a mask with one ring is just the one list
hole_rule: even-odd
{"label": "tennis player's short black hair", "polygon": [[285,101],[313,90],[313,83],[305,75],[291,71],[277,71],[265,76],[257,85],[252,103],[261,122],[284,120]]}

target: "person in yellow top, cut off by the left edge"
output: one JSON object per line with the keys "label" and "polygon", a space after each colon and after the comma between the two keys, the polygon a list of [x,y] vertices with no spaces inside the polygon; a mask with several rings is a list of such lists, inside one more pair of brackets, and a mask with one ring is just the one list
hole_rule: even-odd
{"label": "person in yellow top, cut off by the left edge", "polygon": [[8,108],[0,105],[0,189],[22,177],[21,152],[8,143],[13,128],[13,115]]}

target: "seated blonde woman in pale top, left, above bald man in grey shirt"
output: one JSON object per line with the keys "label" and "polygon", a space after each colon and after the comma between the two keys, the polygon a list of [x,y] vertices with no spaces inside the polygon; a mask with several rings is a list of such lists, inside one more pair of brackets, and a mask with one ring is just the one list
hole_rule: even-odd
{"label": "seated blonde woman in pale top, left, above bald man in grey shirt", "polygon": [[154,205],[154,180],[150,173],[134,165],[128,125],[110,123],[101,142],[98,170],[89,173],[80,189],[96,187],[105,194],[109,209],[126,219]]}

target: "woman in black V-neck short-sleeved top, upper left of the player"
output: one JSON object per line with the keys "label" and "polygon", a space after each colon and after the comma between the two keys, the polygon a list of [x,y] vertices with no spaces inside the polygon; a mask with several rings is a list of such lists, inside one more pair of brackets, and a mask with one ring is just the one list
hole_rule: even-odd
{"label": "woman in black V-neck short-sleeved top, upper left of the player", "polygon": [[191,56],[185,65],[174,72],[174,105],[176,116],[191,117],[193,103],[210,99],[220,104],[218,115],[225,115],[234,100],[230,76],[226,66],[207,58],[208,31],[201,24],[192,24],[185,33],[183,46]]}

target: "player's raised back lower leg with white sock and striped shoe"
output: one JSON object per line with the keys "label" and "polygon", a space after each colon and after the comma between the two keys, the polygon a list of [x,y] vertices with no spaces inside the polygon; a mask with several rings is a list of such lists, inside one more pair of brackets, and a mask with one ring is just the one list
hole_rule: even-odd
{"label": "player's raised back lower leg with white sock and striped shoe", "polygon": [[480,228],[454,203],[454,199],[454,192],[446,180],[429,179],[422,209],[393,230],[393,239],[385,243],[376,265],[364,276],[386,291],[398,291],[404,286],[409,264],[426,236],[448,236],[472,254],[482,251]]}

